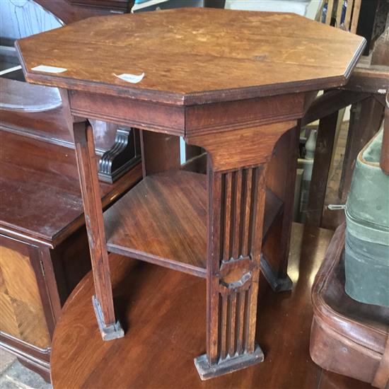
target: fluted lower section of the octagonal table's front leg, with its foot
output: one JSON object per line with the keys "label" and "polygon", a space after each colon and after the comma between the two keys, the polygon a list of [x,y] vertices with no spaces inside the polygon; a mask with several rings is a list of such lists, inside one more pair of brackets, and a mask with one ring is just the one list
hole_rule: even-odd
{"label": "fluted lower section of the octagonal table's front leg, with its foot", "polygon": [[209,172],[207,354],[195,359],[202,380],[264,359],[255,344],[263,178],[263,166]]}

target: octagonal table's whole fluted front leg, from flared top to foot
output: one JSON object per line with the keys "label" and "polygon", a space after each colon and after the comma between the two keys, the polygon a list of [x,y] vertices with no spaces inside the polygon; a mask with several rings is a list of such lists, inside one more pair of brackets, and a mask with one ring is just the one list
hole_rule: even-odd
{"label": "octagonal table's whole fluted front leg, from flared top to foot", "polygon": [[208,160],[207,354],[202,380],[262,362],[255,343],[267,163],[296,122],[189,139]]}

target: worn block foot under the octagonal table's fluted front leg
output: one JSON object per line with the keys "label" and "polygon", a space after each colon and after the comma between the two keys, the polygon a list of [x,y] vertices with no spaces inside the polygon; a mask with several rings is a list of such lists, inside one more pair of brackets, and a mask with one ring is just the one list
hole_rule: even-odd
{"label": "worn block foot under the octagonal table's fluted front leg", "polygon": [[227,373],[246,368],[255,364],[260,364],[264,359],[262,349],[258,344],[255,345],[255,350],[252,354],[240,354],[232,358],[227,356],[226,359],[220,361],[218,364],[209,365],[207,354],[197,356],[194,359],[194,366],[196,366],[202,381],[208,380],[218,376],[223,376]]}

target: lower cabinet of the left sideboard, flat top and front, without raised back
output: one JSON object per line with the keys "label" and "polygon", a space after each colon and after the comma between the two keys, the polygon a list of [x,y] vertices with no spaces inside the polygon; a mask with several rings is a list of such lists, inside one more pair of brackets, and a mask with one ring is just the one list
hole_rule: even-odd
{"label": "lower cabinet of the left sideboard, flat top and front, without raised back", "polygon": [[[0,143],[0,345],[49,380],[62,304],[91,268],[75,153],[4,127]],[[101,184],[103,204],[140,179],[138,164]]]}

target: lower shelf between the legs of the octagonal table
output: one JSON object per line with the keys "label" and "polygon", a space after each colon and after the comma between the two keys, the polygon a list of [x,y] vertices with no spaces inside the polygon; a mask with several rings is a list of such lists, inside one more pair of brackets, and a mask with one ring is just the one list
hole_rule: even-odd
{"label": "lower shelf between the legs of the octagonal table", "polygon": [[[281,209],[281,200],[267,190],[264,236]],[[104,219],[110,252],[206,277],[206,175],[150,175],[105,211]]]}

